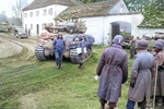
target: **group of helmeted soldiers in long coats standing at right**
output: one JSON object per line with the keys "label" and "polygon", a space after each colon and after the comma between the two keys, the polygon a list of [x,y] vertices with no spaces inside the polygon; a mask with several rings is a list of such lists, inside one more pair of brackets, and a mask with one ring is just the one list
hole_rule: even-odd
{"label": "group of helmeted soldiers in long coats standing at right", "polygon": [[[112,47],[106,48],[99,59],[96,69],[98,78],[97,96],[101,109],[117,109],[120,97],[121,84],[128,80],[128,56],[122,50],[124,38],[116,35]],[[145,39],[130,39],[130,59],[133,60],[130,86],[127,99],[127,109],[134,109],[136,102],[140,109],[147,108],[147,102],[154,96],[155,104],[162,100],[164,107],[164,40],[159,39],[153,45],[152,52],[147,49],[149,43]],[[136,55],[136,56],[134,56]],[[157,81],[156,81],[157,80]]]}

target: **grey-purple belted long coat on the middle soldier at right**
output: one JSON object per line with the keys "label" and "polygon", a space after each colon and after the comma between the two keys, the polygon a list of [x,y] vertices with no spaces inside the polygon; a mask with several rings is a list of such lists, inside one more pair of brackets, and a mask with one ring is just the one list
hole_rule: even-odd
{"label": "grey-purple belted long coat on the middle soldier at right", "polygon": [[151,96],[151,69],[154,64],[154,57],[145,50],[140,50],[132,64],[130,83],[134,87],[129,87],[129,100],[140,102],[144,99],[149,101]]}

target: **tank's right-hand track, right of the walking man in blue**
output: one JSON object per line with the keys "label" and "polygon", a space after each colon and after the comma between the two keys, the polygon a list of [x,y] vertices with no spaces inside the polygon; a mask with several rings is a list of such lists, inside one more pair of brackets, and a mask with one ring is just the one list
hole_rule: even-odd
{"label": "tank's right-hand track, right of the walking man in blue", "polygon": [[77,48],[70,50],[70,60],[72,63],[83,63],[92,56],[92,50],[87,49],[86,53],[78,53]]}

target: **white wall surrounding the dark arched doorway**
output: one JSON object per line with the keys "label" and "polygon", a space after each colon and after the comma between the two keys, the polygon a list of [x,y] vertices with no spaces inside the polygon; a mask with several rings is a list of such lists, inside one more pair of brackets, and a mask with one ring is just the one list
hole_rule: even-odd
{"label": "white wall surrounding the dark arched doorway", "polygon": [[137,37],[140,29],[137,27],[143,20],[142,14],[125,14],[125,15],[108,15],[97,17],[83,17],[87,31],[86,34],[95,38],[96,45],[110,45],[112,44],[112,23],[127,22],[131,24],[131,35]]}

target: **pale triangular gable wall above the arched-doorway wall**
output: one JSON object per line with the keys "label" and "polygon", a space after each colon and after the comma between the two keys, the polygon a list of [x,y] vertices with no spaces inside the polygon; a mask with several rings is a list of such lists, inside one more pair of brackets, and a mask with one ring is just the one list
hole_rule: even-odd
{"label": "pale triangular gable wall above the arched-doorway wall", "polygon": [[129,10],[126,3],[120,0],[110,11],[109,14],[117,14],[117,13],[129,13]]}

